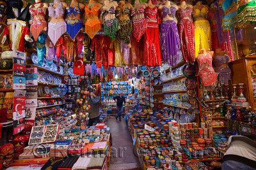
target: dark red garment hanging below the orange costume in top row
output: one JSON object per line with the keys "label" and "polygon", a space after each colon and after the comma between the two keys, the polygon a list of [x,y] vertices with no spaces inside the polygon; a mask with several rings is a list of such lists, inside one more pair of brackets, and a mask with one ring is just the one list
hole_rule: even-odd
{"label": "dark red garment hanging below the orange costume in top row", "polygon": [[95,51],[95,63],[98,68],[108,67],[108,50],[111,41],[109,36],[96,35],[92,39],[90,49]]}

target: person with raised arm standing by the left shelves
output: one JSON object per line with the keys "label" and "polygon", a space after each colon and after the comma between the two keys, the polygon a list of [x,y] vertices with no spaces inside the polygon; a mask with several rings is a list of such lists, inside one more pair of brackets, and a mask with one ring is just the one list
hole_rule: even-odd
{"label": "person with raised arm standing by the left shelves", "polygon": [[93,93],[93,89],[89,89],[88,92],[90,92],[90,96],[88,96],[88,104],[91,106],[89,110],[89,120],[88,120],[88,126],[92,126],[93,124],[98,124],[100,122],[100,106],[101,101],[100,97],[96,96]]}

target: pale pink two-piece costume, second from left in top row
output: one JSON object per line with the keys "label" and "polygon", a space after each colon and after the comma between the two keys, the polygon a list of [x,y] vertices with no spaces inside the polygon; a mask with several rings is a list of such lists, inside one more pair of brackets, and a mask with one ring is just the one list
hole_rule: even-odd
{"label": "pale pink two-piece costume, second from left in top row", "polygon": [[[54,3],[60,3],[56,8],[52,8]],[[64,15],[64,10],[62,8],[62,3],[60,0],[54,0],[54,3],[51,3],[48,11],[49,17],[57,18]],[[52,23],[49,22],[48,24],[48,36],[51,39],[52,43],[55,45],[58,39],[67,31],[67,25],[63,22],[56,22]]]}

